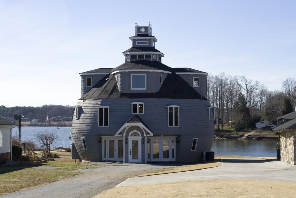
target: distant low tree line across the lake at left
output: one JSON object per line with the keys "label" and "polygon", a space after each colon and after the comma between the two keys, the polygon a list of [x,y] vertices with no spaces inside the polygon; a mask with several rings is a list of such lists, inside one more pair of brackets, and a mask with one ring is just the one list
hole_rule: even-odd
{"label": "distant low tree line across the lake at left", "polygon": [[48,111],[48,115],[51,117],[72,117],[72,110],[69,105],[63,106],[52,104],[45,104],[42,107],[5,107],[4,105],[1,105],[0,116],[13,119],[13,116],[17,114],[29,119],[45,119],[46,110]]}

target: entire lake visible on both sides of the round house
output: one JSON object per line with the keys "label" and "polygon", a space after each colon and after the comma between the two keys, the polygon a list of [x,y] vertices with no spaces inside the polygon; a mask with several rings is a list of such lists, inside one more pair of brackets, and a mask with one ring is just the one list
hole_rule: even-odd
{"label": "entire lake visible on both sides of the round house", "polygon": [[[72,127],[57,127],[51,126],[47,128],[48,132],[54,132],[59,137],[54,142],[51,148],[55,146],[69,147],[69,136]],[[22,141],[32,140],[36,145],[41,144],[35,137],[36,133],[46,133],[45,126],[23,126],[21,129]],[[18,128],[12,129],[12,135],[18,136]],[[211,151],[215,151],[215,155],[241,155],[241,156],[256,156],[256,157],[276,157],[276,140],[227,140],[215,139]],[[73,140],[71,140],[73,143]]]}

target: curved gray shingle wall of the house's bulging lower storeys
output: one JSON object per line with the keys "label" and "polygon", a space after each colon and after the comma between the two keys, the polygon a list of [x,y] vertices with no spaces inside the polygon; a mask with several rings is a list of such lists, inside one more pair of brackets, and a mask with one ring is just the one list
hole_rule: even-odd
{"label": "curved gray shingle wall of the house's bulging lower storeys", "polygon": [[[73,120],[72,136],[75,147],[83,160],[101,161],[102,143],[98,143],[101,135],[114,136],[115,133],[133,115],[131,102],[144,102],[144,114],[137,114],[147,124],[155,136],[177,136],[176,161],[197,162],[202,151],[210,151],[214,137],[214,120],[209,120],[207,100],[198,99],[102,99],[78,101],[81,106],[78,120]],[[111,106],[109,126],[98,126],[98,107]],[[179,127],[168,126],[168,105],[179,105]],[[75,113],[74,113],[75,114]],[[74,115],[75,117],[75,115]],[[126,134],[128,135],[128,133]],[[85,137],[87,151],[83,150],[81,137]],[[127,137],[127,136],[126,136]],[[126,139],[124,137],[124,139]],[[198,138],[196,151],[191,151],[193,138]],[[127,145],[125,144],[127,147]],[[142,162],[145,158],[145,144],[141,144]],[[125,157],[128,147],[125,148]],[[128,158],[126,159],[128,160]]]}

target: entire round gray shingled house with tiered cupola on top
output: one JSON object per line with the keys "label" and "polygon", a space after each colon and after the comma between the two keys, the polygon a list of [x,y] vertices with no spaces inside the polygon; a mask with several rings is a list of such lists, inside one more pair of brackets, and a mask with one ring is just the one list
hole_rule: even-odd
{"label": "entire round gray shingled house with tiered cupola on top", "polygon": [[86,161],[199,161],[214,138],[208,74],[163,64],[150,23],[129,39],[125,63],[80,73],[73,151]]}

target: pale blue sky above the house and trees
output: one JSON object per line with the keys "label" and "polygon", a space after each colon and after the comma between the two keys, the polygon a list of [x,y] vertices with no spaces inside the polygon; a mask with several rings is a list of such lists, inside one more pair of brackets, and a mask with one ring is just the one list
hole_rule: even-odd
{"label": "pale blue sky above the house and trees", "polygon": [[296,1],[0,1],[0,105],[75,106],[79,73],[115,68],[135,22],[152,24],[163,64],[296,77]]}

